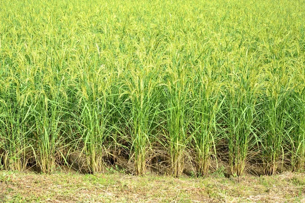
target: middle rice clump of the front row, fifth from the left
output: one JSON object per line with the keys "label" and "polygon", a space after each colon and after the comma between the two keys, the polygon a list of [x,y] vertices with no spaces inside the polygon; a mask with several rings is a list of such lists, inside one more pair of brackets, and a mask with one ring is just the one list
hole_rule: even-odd
{"label": "middle rice clump of the front row, fifth from the left", "polygon": [[[173,59],[173,66],[176,64]],[[173,67],[168,70],[168,80],[164,86],[166,99],[166,133],[172,175],[179,177],[184,170],[187,147],[190,141],[190,81],[186,69]]]}

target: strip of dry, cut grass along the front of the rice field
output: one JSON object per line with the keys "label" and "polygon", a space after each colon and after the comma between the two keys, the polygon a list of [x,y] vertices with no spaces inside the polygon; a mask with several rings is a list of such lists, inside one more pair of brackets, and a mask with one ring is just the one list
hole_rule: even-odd
{"label": "strip of dry, cut grass along the front of the rice field", "polygon": [[305,202],[303,173],[272,177],[79,175],[0,172],[1,202]]}

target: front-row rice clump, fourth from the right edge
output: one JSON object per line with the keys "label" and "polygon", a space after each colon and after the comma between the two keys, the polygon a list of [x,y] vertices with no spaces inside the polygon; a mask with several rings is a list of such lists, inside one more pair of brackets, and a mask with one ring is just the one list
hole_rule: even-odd
{"label": "front-row rice clump, fourth from the right edge", "polygon": [[208,173],[212,156],[216,155],[219,130],[218,112],[222,109],[223,99],[219,94],[221,86],[218,83],[199,71],[196,74],[197,79],[192,86],[192,98],[194,98],[193,148],[197,173],[199,176],[203,176]]}

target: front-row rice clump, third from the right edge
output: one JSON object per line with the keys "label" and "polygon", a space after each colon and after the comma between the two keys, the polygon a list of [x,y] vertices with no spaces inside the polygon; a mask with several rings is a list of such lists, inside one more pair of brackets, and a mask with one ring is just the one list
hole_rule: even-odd
{"label": "front-row rice clump, third from the right edge", "polygon": [[[249,71],[250,72],[250,71]],[[257,143],[255,121],[257,86],[256,76],[238,73],[226,87],[225,123],[228,126],[226,139],[229,150],[229,172],[240,176],[249,160],[249,151]]]}

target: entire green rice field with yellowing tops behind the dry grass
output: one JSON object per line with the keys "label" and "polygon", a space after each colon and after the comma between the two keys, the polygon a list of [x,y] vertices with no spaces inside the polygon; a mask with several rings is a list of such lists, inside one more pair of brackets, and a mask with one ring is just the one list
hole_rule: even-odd
{"label": "entire green rice field with yellowing tops behind the dry grass", "polygon": [[305,169],[305,2],[0,1],[0,168]]}

